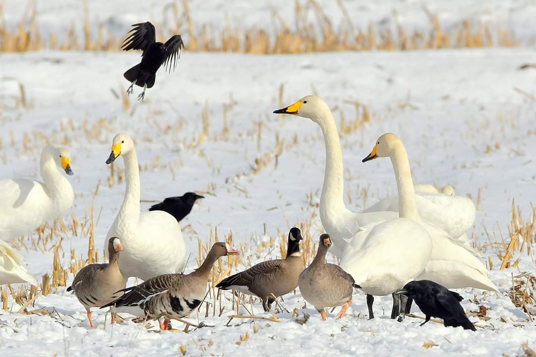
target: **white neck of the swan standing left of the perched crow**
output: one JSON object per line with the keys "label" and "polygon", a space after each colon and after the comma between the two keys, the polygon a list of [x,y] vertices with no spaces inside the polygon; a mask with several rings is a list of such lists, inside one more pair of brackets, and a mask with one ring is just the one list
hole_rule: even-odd
{"label": "white neck of the swan standing left of the perched crow", "polygon": [[118,213],[118,217],[124,223],[137,225],[140,213],[140,186],[139,186],[139,167],[136,151],[132,149],[123,154],[125,163],[125,198]]}

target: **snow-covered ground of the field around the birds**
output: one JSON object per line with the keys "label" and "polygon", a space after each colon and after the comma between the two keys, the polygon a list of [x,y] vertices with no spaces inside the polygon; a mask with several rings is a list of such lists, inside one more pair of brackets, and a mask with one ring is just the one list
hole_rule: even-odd
{"label": "snow-covered ground of the field around the birds", "polygon": [[[92,21],[116,26],[121,34],[131,23],[148,17],[161,20],[163,3],[134,2],[123,9],[119,2],[90,1],[88,9]],[[334,21],[340,18],[336,2],[318,3]],[[224,24],[228,12],[230,19],[247,28],[269,24],[272,6],[292,23],[293,10],[285,12],[285,4],[288,2],[282,0],[248,5],[191,1],[190,10],[193,18],[212,20],[215,26]],[[355,24],[363,26],[391,18],[394,10],[408,26],[428,24],[420,2],[344,4],[355,14]],[[17,23],[24,6],[22,1],[4,3],[8,24]],[[40,26],[50,32],[69,28],[83,13],[81,2],[38,1],[37,6]],[[443,24],[449,19],[456,24],[466,16],[488,19],[515,28],[523,39],[532,38],[533,2],[452,1],[429,2],[427,6],[440,15]],[[241,15],[244,13],[247,16]],[[341,134],[348,207],[360,210],[396,192],[388,160],[361,163],[379,135],[393,132],[406,145],[416,183],[451,184],[457,195],[470,195],[478,201],[471,233],[480,246],[490,239],[500,241],[501,236],[508,239],[512,199],[525,220],[532,211],[536,103],[530,96],[536,94],[536,70],[517,68],[534,61],[533,49],[287,56],[184,52],[173,74],[158,73],[157,83],[147,90],[143,102],[136,101],[140,89],[135,88],[125,110],[121,93],[128,83],[122,74],[137,61],[136,53],[0,54],[0,178],[39,178],[43,145],[46,141],[64,144],[71,151],[75,176],[69,179],[76,192],[75,206],[72,213],[65,213],[64,220],[69,223],[76,216],[79,222],[87,223],[93,207],[98,249],[124,194],[124,183],[117,183],[117,178],[114,185],[108,185],[110,169],[105,164],[111,140],[118,132],[136,139],[143,200],[161,200],[186,191],[205,193],[206,198],[181,223],[183,227],[191,225],[184,230],[188,253],[192,254],[187,271],[197,267],[193,258],[198,255],[198,239],[206,244],[211,228],[218,228],[220,239],[232,231],[234,244],[245,251],[241,269],[268,257],[280,257],[279,236],[286,236],[295,224],[310,223],[311,238],[316,242],[323,231],[317,207],[324,173],[322,133],[308,119],[272,114],[312,93],[326,100],[338,122],[341,116],[347,124],[355,120],[355,102],[365,105],[371,114],[369,122]],[[20,88],[24,89],[25,105]],[[205,128],[208,135],[199,140],[203,122],[205,126],[209,123]],[[283,143],[277,166],[270,157],[259,169],[256,159],[272,155],[278,142]],[[122,167],[119,159],[116,168]],[[142,203],[142,209],[151,204]],[[76,250],[78,258],[87,256],[87,236],[61,232],[46,248],[59,238],[63,238],[64,267],[70,265],[70,249]],[[270,238],[274,246],[267,243]],[[52,250],[35,251],[31,238],[25,242],[28,271],[40,280],[42,274],[51,272]],[[258,253],[257,246],[263,243]],[[501,294],[458,290],[465,297],[464,309],[473,311],[469,313],[473,322],[479,320],[474,314],[479,305],[488,308],[491,319],[480,320],[478,324],[486,328],[475,333],[434,323],[419,327],[422,320],[415,318],[395,322],[388,318],[392,303],[388,297],[376,300],[377,318],[368,320],[362,294],[354,296],[346,317],[335,320],[336,310],[322,322],[315,310],[302,308],[299,290],[285,296],[284,305],[291,312],[299,309],[299,318],[303,312],[310,314],[305,324],[296,323],[292,314],[284,312],[277,315],[279,322],[233,319],[227,325],[226,316],[234,314],[227,301],[221,317],[212,316],[211,310],[204,318],[205,308],[192,316],[192,321],[214,327],[188,334],[154,333],[146,330],[145,324],[130,320],[104,328],[105,315],[100,311],[93,315],[97,329],[90,330],[83,307],[60,287],[48,296],[39,296],[28,307],[46,309],[52,312],[49,316],[17,314],[20,306],[9,298],[9,311],[0,310],[0,354],[175,356],[181,354],[183,346],[191,356],[514,356],[523,354],[521,345],[525,342],[536,349],[536,325],[508,297],[512,274],[536,274],[534,258],[516,252],[512,262],[519,258],[517,267],[499,271],[497,245],[482,253],[493,261],[491,278]],[[70,275],[69,282],[72,278]],[[230,298],[230,293],[225,296]],[[262,312],[258,302],[253,309],[257,316],[271,317]],[[422,316],[416,307],[412,312]],[[245,309],[241,313],[249,315]],[[182,324],[175,322],[174,327],[182,329]],[[437,346],[426,349],[422,345],[428,341]]]}

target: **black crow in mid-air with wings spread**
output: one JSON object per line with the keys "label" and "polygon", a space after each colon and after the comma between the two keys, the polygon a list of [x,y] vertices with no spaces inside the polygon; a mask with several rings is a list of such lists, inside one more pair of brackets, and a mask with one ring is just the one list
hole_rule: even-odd
{"label": "black crow in mid-air with wings spread", "polygon": [[132,87],[135,84],[143,87],[143,92],[138,96],[138,100],[141,100],[145,97],[145,89],[152,88],[154,85],[157,71],[162,64],[169,72],[172,67],[175,70],[177,58],[181,58],[181,47],[184,48],[184,43],[181,35],[173,35],[166,43],[157,42],[154,26],[149,21],[132,26],[134,28],[129,31],[130,35],[123,41],[121,48],[125,51],[143,50],[142,62],[126,71],[123,76],[130,82],[126,93],[132,94],[134,92]]}

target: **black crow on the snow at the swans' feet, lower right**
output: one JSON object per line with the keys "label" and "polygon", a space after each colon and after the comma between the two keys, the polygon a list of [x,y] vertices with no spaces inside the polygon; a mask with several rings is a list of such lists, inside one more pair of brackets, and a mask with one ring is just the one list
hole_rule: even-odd
{"label": "black crow on the snow at the swans' feet, lower right", "polygon": [[442,318],[445,326],[462,326],[464,330],[477,330],[460,305],[463,297],[436,282],[410,281],[396,294],[404,294],[413,298],[419,309],[426,315],[425,322],[421,326],[430,320],[430,316],[433,316]]}

